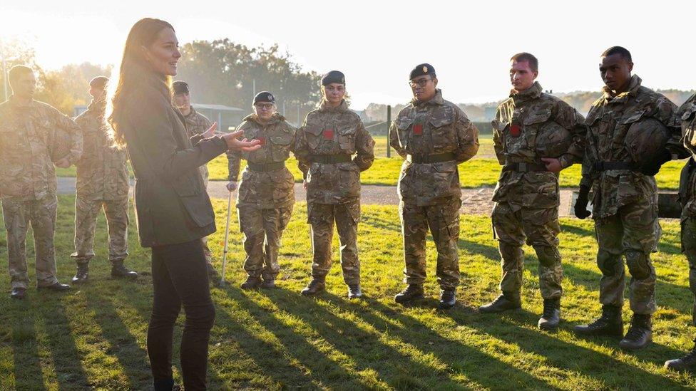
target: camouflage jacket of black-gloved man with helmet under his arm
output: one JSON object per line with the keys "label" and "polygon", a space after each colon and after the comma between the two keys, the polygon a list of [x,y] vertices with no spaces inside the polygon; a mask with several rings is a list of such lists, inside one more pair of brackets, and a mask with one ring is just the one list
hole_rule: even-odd
{"label": "camouflage jacket of black-gloved man with helmet under his arm", "polygon": [[593,103],[585,120],[588,145],[580,184],[592,186],[594,219],[613,216],[620,207],[633,202],[644,201],[657,206],[655,177],[635,170],[594,170],[596,162],[632,162],[624,138],[633,122],[655,118],[672,130],[667,148],[680,147],[680,134],[674,120],[675,104],[640,82],[638,75],[633,75],[628,90],[618,95],[604,88],[602,98]]}

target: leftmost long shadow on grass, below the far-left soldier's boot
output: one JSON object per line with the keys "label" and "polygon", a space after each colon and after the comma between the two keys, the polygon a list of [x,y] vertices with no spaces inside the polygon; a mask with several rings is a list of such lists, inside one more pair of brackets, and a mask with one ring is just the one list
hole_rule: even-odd
{"label": "leftmost long shadow on grass, below the far-left soldier's boot", "polygon": [[[12,322],[12,351],[14,355],[14,385],[17,390],[37,390],[44,388],[44,375],[41,373],[39,341],[36,340],[36,319],[31,298],[24,303],[16,303],[10,311],[14,313]],[[6,303],[6,311],[10,303]],[[29,314],[27,314],[29,312]]]}

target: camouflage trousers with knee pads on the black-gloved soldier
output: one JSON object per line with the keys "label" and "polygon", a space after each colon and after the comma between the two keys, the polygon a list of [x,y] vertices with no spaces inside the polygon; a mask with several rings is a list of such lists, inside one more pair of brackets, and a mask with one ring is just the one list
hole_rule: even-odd
{"label": "camouflage trousers with knee pads on the black-gloved soldier", "polygon": [[655,312],[655,268],[650,252],[657,241],[657,205],[633,202],[613,216],[595,219],[599,250],[597,266],[602,271],[599,301],[605,306],[623,306],[626,273],[622,256],[631,274],[630,308],[634,313]]}

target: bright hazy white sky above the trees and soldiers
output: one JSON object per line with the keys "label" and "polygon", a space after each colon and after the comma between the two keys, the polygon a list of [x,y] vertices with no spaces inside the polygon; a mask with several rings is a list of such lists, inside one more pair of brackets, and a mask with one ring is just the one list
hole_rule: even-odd
{"label": "bright hazy white sky above the trees and soldiers", "polygon": [[0,0],[0,9],[0,39],[29,41],[46,68],[116,63],[128,29],[153,16],[173,24],[181,43],[279,43],[306,70],[343,71],[355,109],[408,101],[409,71],[423,62],[444,98],[499,100],[519,51],[539,58],[547,90],[598,90],[598,57],[613,45],[631,51],[648,87],[696,88],[691,1]]}

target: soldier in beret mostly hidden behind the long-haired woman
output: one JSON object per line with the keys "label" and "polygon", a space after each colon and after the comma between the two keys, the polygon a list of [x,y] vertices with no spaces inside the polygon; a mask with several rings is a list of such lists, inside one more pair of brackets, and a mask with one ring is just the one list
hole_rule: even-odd
{"label": "soldier in beret mostly hidden behind the long-haired woman", "polygon": [[[206,130],[210,128],[212,123],[205,115],[198,113],[191,105],[191,95],[188,88],[188,83],[177,80],[173,83],[172,89],[174,91],[173,102],[179,113],[183,115],[184,125],[186,125],[186,130],[188,130],[189,137],[195,135],[203,135]],[[203,186],[208,189],[208,166],[200,166],[200,176],[203,177]],[[208,237],[200,239],[203,243],[203,254],[205,255],[205,260],[208,261],[208,274],[213,277],[217,275],[217,271],[213,267],[213,253],[208,247]]]}

